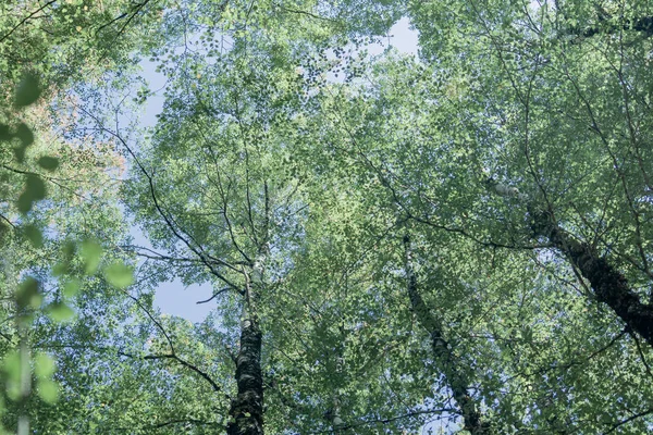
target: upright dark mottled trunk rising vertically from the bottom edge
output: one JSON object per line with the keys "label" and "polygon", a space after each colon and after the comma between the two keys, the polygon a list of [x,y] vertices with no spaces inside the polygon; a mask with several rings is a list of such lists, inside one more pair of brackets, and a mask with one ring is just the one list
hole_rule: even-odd
{"label": "upright dark mottled trunk rising vertically from the bottom edge", "polygon": [[[254,316],[250,316],[254,318]],[[255,319],[244,320],[241,350],[236,358],[238,395],[232,401],[227,435],[263,434],[263,377],[261,374],[261,331]]]}

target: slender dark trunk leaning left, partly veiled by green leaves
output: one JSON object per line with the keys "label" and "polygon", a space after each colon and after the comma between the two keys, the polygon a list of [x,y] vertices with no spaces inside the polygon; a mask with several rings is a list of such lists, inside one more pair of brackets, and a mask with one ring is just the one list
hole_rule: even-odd
{"label": "slender dark trunk leaning left, partly veiled by green leaves", "polygon": [[417,277],[412,272],[410,237],[404,236],[404,247],[406,251],[406,277],[408,279],[408,297],[410,307],[415,312],[420,325],[429,332],[431,336],[431,346],[433,356],[441,373],[445,376],[446,383],[453,393],[463,420],[465,428],[472,435],[490,435],[492,432],[488,424],[481,421],[481,413],[478,411],[475,400],[469,395],[468,380],[461,371],[452,352],[449,344],[442,335],[442,325],[440,321],[431,313],[424,300],[417,289]]}

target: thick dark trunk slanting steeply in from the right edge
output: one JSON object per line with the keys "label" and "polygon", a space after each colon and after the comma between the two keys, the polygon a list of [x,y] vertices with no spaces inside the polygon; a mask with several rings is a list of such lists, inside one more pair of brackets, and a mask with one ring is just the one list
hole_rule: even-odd
{"label": "thick dark trunk slanting steeply in from the right edge", "polygon": [[596,300],[606,303],[634,332],[653,346],[653,307],[642,303],[626,277],[588,244],[576,240],[552,221],[549,213],[534,214],[532,229],[549,238],[588,279]]}

